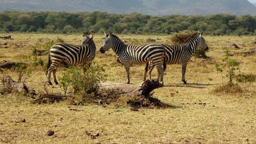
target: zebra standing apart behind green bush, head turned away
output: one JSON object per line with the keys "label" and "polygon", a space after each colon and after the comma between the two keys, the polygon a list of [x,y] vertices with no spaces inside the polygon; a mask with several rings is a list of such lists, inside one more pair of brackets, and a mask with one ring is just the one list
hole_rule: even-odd
{"label": "zebra standing apart behind green bush, head turned away", "polygon": [[[49,50],[48,63],[46,69],[46,76],[48,77],[48,83],[51,83],[51,72],[55,84],[58,84],[56,79],[56,69],[61,61],[66,62],[69,65],[76,66],[78,64],[90,64],[95,57],[96,45],[93,41],[93,35],[91,33],[83,32],[84,39],[81,45],[71,45],[67,43],[59,43],[53,45]],[[86,67],[84,66],[84,72]]]}

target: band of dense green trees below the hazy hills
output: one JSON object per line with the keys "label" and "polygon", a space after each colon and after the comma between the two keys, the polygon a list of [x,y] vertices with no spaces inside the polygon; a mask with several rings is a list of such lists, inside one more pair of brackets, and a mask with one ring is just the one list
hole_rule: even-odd
{"label": "band of dense green trees below the hazy hills", "polygon": [[72,34],[83,31],[117,34],[171,34],[183,30],[210,35],[252,35],[256,16],[231,14],[150,16],[108,12],[0,12],[0,32]]}

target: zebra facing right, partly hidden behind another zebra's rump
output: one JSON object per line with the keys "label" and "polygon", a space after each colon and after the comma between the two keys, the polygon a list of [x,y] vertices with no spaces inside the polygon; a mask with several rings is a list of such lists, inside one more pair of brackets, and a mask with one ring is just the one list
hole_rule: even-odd
{"label": "zebra facing right, partly hidden behind another zebra's rump", "polygon": [[[177,64],[182,63],[182,82],[187,84],[185,80],[185,73],[187,62],[190,60],[191,55],[197,51],[197,47],[202,47],[204,51],[208,50],[208,46],[205,43],[205,39],[202,37],[202,32],[195,33],[191,37],[189,37],[185,42],[181,45],[164,45],[166,49],[166,63],[167,64]],[[149,77],[151,79],[151,72],[154,68],[154,62],[148,62],[146,64],[144,80],[146,80],[147,71],[149,73]]]}

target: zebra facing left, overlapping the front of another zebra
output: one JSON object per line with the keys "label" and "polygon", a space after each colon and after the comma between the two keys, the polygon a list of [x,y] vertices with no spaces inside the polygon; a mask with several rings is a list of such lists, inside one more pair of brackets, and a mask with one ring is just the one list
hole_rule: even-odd
{"label": "zebra facing left, overlapping the front of another zebra", "polygon": [[[124,41],[117,36],[105,33],[105,40],[100,48],[100,53],[105,53],[110,48],[118,56],[123,64],[127,74],[127,84],[130,83],[130,64],[146,64],[149,61],[154,62],[158,70],[158,80],[163,83],[163,74],[166,69],[165,50],[161,44],[147,43],[143,45],[125,44]],[[164,62],[163,62],[164,61]],[[163,63],[163,68],[162,68]]]}

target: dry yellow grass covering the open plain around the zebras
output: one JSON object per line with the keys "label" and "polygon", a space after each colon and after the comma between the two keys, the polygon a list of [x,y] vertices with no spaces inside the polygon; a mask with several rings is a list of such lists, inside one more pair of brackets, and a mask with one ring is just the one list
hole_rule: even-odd
{"label": "dry yellow grass covering the open plain around the zebras", "polygon": [[[7,35],[7,34],[0,34]],[[32,62],[32,48],[39,39],[61,38],[67,43],[80,44],[81,35],[50,34],[11,34],[14,40],[8,42],[9,48],[0,48],[0,62]],[[97,50],[102,44],[103,35],[95,35]],[[123,35],[122,39],[138,39],[146,42],[169,43],[170,36]],[[242,93],[215,93],[214,90],[225,85],[228,79],[216,72],[214,64],[225,55],[225,50],[245,51],[255,47],[249,45],[255,37],[205,36],[210,47],[207,56],[211,60],[194,59],[187,66],[186,79],[181,81],[181,65],[169,65],[164,75],[162,88],[155,90],[153,97],[170,105],[162,109],[139,109],[131,111],[128,105],[117,103],[102,107],[98,105],[72,106],[67,102],[33,105],[30,97],[15,93],[0,95],[0,143],[118,143],[118,144],[164,144],[170,143],[256,143],[256,83],[241,84]],[[236,43],[240,49],[227,47]],[[256,74],[255,55],[236,56],[240,60],[241,71]],[[46,56],[41,59],[46,61]],[[96,54],[95,61],[106,68],[108,80],[127,82],[125,69],[115,62],[112,50]],[[199,63],[200,62],[200,63]],[[57,76],[65,68],[59,68]],[[143,80],[144,65],[131,67],[131,83]],[[1,73],[1,77],[4,74]],[[16,79],[14,72],[8,75]],[[156,69],[152,72],[157,77]],[[37,67],[26,83],[39,93],[47,80],[44,70]],[[63,93],[58,85],[48,86],[50,93]],[[125,101],[124,97],[121,97]],[[71,108],[79,111],[70,110]],[[22,119],[26,122],[21,122]],[[53,130],[52,136],[47,131]],[[99,132],[92,139],[85,131]]]}

